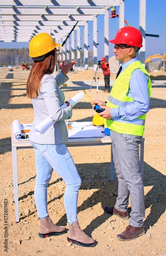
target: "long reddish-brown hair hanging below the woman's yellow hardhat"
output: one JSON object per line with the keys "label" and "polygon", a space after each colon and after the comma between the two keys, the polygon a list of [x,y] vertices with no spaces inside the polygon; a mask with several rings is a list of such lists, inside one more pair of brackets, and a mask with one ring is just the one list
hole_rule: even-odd
{"label": "long reddish-brown hair hanging below the woman's yellow hardhat", "polygon": [[41,88],[42,77],[52,74],[55,68],[55,51],[48,52],[43,61],[34,61],[26,84],[26,96],[37,98]]}

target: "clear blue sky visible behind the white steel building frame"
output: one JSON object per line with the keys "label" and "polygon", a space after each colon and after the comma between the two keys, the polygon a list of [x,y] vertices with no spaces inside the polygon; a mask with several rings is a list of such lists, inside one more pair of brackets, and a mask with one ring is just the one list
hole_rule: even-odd
{"label": "clear blue sky visible behind the white steel building frame", "polygon": [[[139,29],[139,0],[124,0],[124,18],[130,26]],[[118,7],[117,7],[118,14]],[[125,26],[127,26],[125,24]],[[104,15],[97,17],[98,29],[98,60],[104,57]],[[119,20],[109,18],[109,40],[115,38],[119,29]],[[146,36],[145,58],[153,54],[166,52],[166,0],[146,0],[146,33],[159,35],[159,38]],[[88,45],[93,50],[93,22],[88,22]],[[0,49],[4,48],[26,48],[29,43],[2,43]],[[81,27],[81,47],[84,47],[83,27]],[[109,58],[114,55],[113,44],[109,43]]]}

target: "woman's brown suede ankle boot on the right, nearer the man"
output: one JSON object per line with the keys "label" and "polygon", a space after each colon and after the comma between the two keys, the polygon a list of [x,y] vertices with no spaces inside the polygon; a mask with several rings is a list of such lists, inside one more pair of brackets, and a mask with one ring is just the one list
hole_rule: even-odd
{"label": "woman's brown suede ankle boot on the right, nearer the man", "polygon": [[84,231],[79,227],[79,222],[76,221],[73,224],[69,224],[69,233],[67,237],[68,242],[71,244],[77,244],[84,247],[96,246],[95,240],[87,236]]}

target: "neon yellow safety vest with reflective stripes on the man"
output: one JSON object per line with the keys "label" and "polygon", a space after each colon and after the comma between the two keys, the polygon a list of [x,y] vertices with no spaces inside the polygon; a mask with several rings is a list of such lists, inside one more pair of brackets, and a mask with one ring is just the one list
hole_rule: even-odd
{"label": "neon yellow safety vest with reflective stripes on the man", "polygon": [[[121,74],[115,79],[113,84],[113,88],[110,92],[109,99],[107,101],[107,106],[110,108],[118,108],[125,107],[130,105],[133,102],[131,97],[127,96],[129,90],[129,81],[132,75],[132,72],[135,69],[140,69],[143,73],[145,73],[148,77],[148,73],[141,64],[140,61],[135,61],[130,64]],[[148,93],[150,99],[152,84],[150,78],[148,79]],[[146,113],[139,116],[133,120],[121,120],[120,117],[115,117],[113,119],[104,120],[105,128],[109,128],[110,130],[116,131],[122,134],[131,134],[131,135],[139,135],[143,136],[144,126],[145,126],[145,118]]]}

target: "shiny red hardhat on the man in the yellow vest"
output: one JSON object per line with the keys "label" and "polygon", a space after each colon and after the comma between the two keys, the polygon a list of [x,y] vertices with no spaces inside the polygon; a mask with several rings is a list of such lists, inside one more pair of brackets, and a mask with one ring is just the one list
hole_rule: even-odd
{"label": "shiny red hardhat on the man in the yellow vest", "polygon": [[143,47],[141,32],[133,27],[123,27],[117,32],[115,39],[109,40],[113,44],[127,44],[134,47]]}

